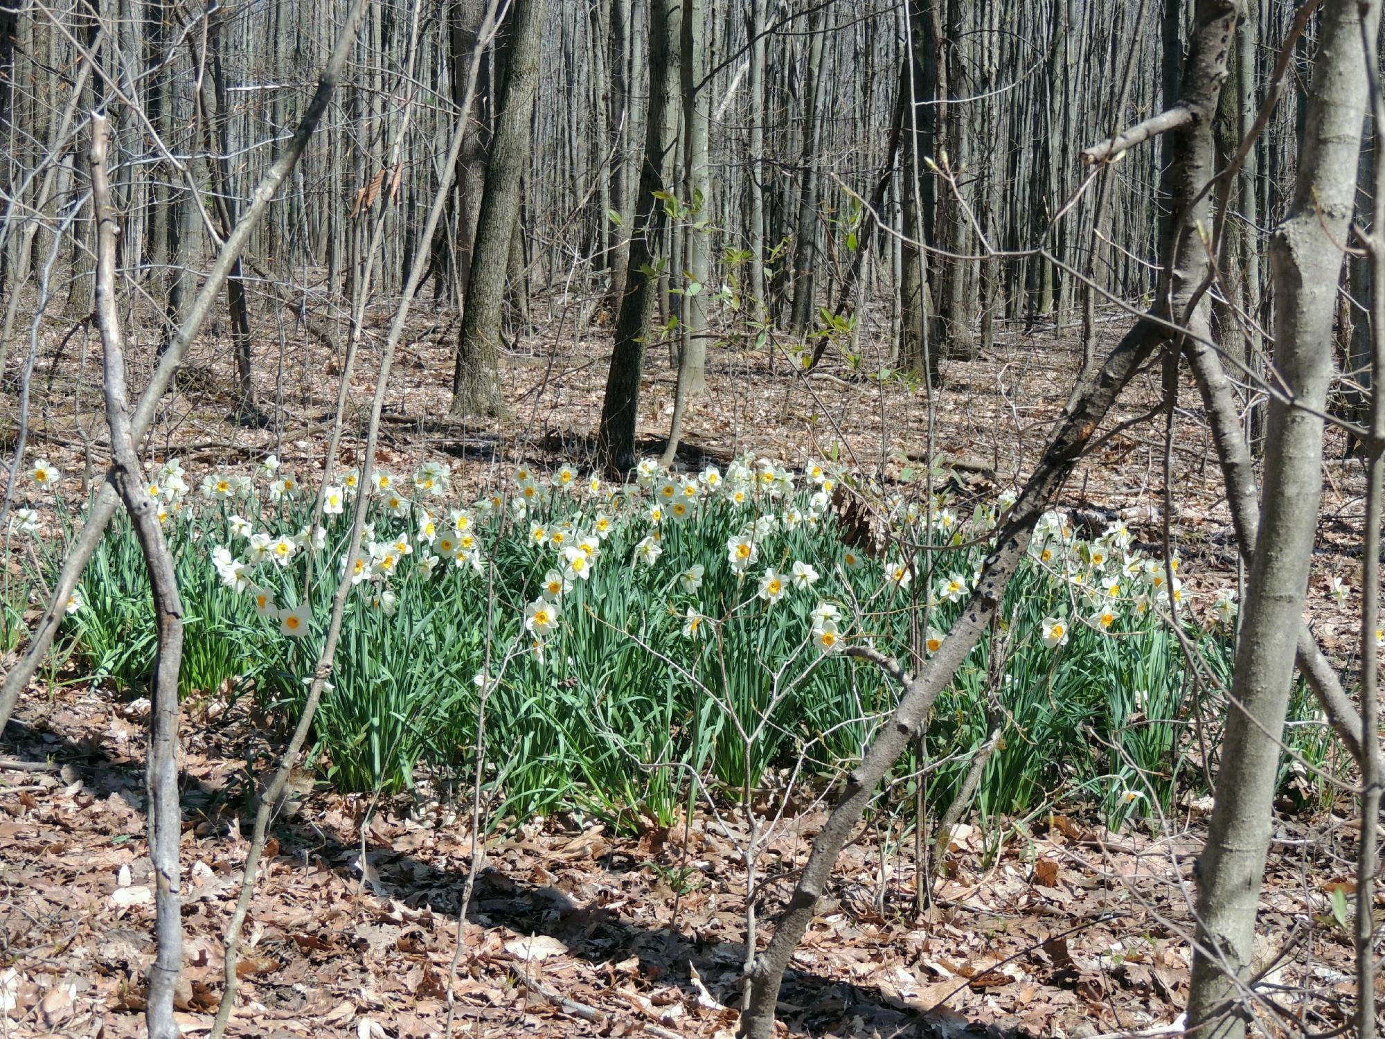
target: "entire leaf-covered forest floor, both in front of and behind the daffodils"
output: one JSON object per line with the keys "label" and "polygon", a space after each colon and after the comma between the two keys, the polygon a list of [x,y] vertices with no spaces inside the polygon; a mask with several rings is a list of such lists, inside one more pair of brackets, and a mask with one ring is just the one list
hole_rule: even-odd
{"label": "entire leaf-covered forest floor, both in front of and behind the daffodils", "polygon": [[[503,359],[510,413],[453,423],[445,416],[454,327],[427,316],[416,326],[396,360],[382,464],[446,459],[465,497],[521,459],[555,463],[590,450],[609,350],[602,328],[553,313],[542,335]],[[1123,327],[1112,323],[1111,335]],[[281,407],[276,425],[227,421],[229,366],[212,360],[213,349],[224,356],[224,344],[209,344],[168,402],[155,453],[179,454],[194,470],[248,467],[276,452],[312,482],[339,362],[303,330],[274,338],[262,345],[256,371],[262,400]],[[93,349],[79,334],[51,368],[42,359],[33,378],[32,450],[69,474],[91,471],[91,456],[98,472],[102,454]],[[651,346],[641,400],[651,453],[672,409],[662,352]],[[715,350],[708,393],[687,423],[692,453],[749,449],[802,464],[839,442],[846,464],[882,464],[888,479],[907,478],[927,457],[925,395],[863,378],[879,359],[868,345],[861,352],[857,371],[828,363],[803,378],[783,359],[771,373],[763,350]],[[945,366],[935,443],[960,464],[971,493],[990,496],[1028,472],[1073,377],[1072,355],[1050,328],[1003,337],[994,356]],[[363,350],[357,402],[374,389],[377,360]],[[1112,421],[1148,410],[1158,381],[1158,370],[1141,377]],[[132,382],[140,385],[137,371]],[[1235,576],[1195,399],[1186,388],[1169,481],[1173,538],[1194,593]],[[361,414],[357,406],[349,420]],[[359,460],[359,432],[345,441],[345,464]],[[1339,461],[1339,443],[1328,450],[1312,615],[1324,648],[1348,659],[1356,601],[1341,610],[1325,590],[1332,575],[1360,583],[1360,467]],[[1119,514],[1143,542],[1158,543],[1162,456],[1162,427],[1137,427],[1079,470],[1065,504]],[[147,702],[65,673],[48,679],[29,690],[0,747],[0,1035],[136,1035],[152,956],[141,812]],[[277,745],[276,730],[247,715],[244,702],[188,704],[181,1013],[190,1035],[206,1033],[222,991],[220,939],[247,846],[248,762],[259,774]],[[488,838],[458,953],[456,913],[472,841],[458,799],[465,794],[371,805],[299,777],[247,924],[231,1035],[442,1035],[454,954],[454,1035],[734,1032],[729,1007],[740,1004],[748,880],[735,823],[723,831],[698,815],[668,833],[625,838],[555,816],[497,833]],[[1162,827],[1119,834],[1080,810],[963,826],[922,918],[911,914],[911,841],[900,846],[897,831],[870,831],[838,863],[785,984],[781,1018],[795,1035],[863,1039],[1090,1038],[1168,1027],[1187,992],[1191,873],[1206,808],[1190,802]],[[1302,1013],[1312,992],[1314,1031],[1349,1013],[1353,991],[1349,931],[1334,918],[1331,895],[1350,877],[1355,830],[1350,805],[1337,808],[1277,817],[1260,917],[1267,992],[1288,1015]],[[762,858],[759,920],[773,921],[821,819],[820,806],[794,819]],[[569,1004],[554,1006],[554,997]],[[584,1020],[575,1004],[598,1020]]]}

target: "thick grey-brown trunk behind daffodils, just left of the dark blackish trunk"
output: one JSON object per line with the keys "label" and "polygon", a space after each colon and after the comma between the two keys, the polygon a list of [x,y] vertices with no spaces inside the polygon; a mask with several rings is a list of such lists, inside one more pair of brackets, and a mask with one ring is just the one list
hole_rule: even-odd
{"label": "thick grey-brown trunk behind daffodils, just left of the dark blackish trunk", "polygon": [[533,96],[539,86],[539,46],[546,0],[515,0],[511,51],[500,91],[496,137],[486,163],[486,190],[476,222],[467,310],[457,337],[452,414],[496,416],[500,402],[500,321],[504,312],[510,238],[519,217],[519,188],[529,163]]}

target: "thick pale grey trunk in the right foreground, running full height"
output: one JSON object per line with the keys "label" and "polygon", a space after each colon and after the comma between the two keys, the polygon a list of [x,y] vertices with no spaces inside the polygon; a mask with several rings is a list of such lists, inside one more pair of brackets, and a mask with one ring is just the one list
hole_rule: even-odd
{"label": "thick pale grey trunk in the right foreground, running full height", "polygon": [[[1216,808],[1198,859],[1198,942],[1188,1024],[1217,1039],[1245,1035],[1256,909],[1269,852],[1274,776],[1288,709],[1321,493],[1323,420],[1332,374],[1335,288],[1352,216],[1366,111],[1367,55],[1379,4],[1327,3],[1307,97],[1294,202],[1270,244],[1276,367],[1292,405],[1270,402],[1265,492],[1246,586]],[[1374,62],[1374,54],[1368,58]],[[1370,738],[1370,734],[1364,734]],[[1368,996],[1366,996],[1368,999]]]}

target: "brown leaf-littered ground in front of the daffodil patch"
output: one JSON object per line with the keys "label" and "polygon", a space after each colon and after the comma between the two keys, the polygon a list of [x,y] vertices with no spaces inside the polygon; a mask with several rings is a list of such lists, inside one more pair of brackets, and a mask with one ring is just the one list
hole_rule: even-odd
{"label": "brown leaf-littered ground in front of the daffodil patch", "polygon": [[[8,1035],[123,1036],[143,1028],[152,957],[140,701],[80,687],[30,700],[0,767]],[[205,1033],[222,991],[223,927],[241,880],[247,754],[262,730],[240,708],[187,719],[183,758],[187,970],[183,1022]],[[18,762],[15,761],[18,759]],[[22,763],[25,767],[8,767]],[[44,765],[44,769],[33,766]],[[1201,806],[1168,834],[1109,834],[1044,816],[990,840],[961,827],[951,876],[910,912],[911,846],[868,831],[784,991],[795,1033],[997,1031],[1091,1036],[1170,1024],[1187,991],[1192,855]],[[234,1035],[442,1035],[471,830],[446,803],[367,803],[303,776],[276,830],[247,924]],[[819,810],[762,859],[758,916],[788,894]],[[1280,820],[1262,913],[1262,964],[1294,1013],[1349,1004],[1350,948],[1330,889],[1348,877],[1349,826]],[[712,1036],[733,1029],[745,954],[745,869],[705,817],[618,838],[550,819],[488,841],[456,975],[456,1035]],[[1312,838],[1312,840],[1309,840]],[[999,840],[999,849],[996,841]],[[367,869],[361,871],[361,842]],[[884,912],[882,912],[884,910]],[[1277,959],[1280,957],[1280,959]],[[598,1011],[593,1022],[529,992]],[[1281,988],[1283,986],[1283,988]],[[921,1031],[922,1029],[922,1031]]]}

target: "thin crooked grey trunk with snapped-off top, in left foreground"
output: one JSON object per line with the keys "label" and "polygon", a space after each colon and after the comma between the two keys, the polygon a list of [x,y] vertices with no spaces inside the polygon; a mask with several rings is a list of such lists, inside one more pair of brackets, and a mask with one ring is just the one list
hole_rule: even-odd
{"label": "thin crooked grey trunk with snapped-off top, in left foreground", "polygon": [[154,593],[158,650],[150,683],[150,747],[145,761],[145,823],[154,863],[154,936],[144,1017],[151,1039],[179,1039],[173,995],[183,973],[183,916],[179,841],[183,813],[177,788],[177,675],[183,662],[183,600],[179,597],[173,557],[163,542],[158,510],[145,492],[134,447],[130,403],[125,382],[125,344],[115,309],[115,240],[119,224],[111,208],[105,172],[105,116],[91,114],[91,208],[97,223],[96,320],[101,331],[105,416],[111,428],[111,479],[134,524]]}

